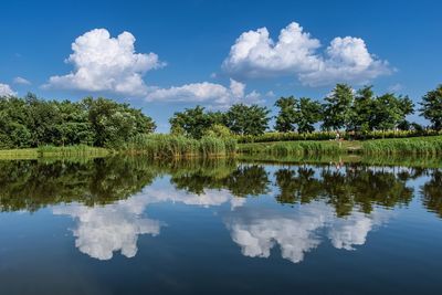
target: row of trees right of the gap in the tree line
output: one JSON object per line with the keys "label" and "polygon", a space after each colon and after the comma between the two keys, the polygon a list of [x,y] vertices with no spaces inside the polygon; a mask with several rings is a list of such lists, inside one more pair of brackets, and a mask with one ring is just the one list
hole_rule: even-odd
{"label": "row of trees right of the gap in the tree line", "polygon": [[[372,86],[354,91],[347,84],[337,84],[319,103],[309,97],[278,98],[274,129],[280,133],[313,133],[346,130],[366,134],[372,130],[420,130],[423,127],[407,120],[415,110],[408,96],[386,93],[376,95]],[[420,103],[420,115],[430,120],[431,127],[442,129],[442,85],[428,92]],[[203,107],[187,108],[175,113],[169,123],[171,131],[200,138],[210,131],[236,135],[261,135],[269,129],[271,110],[267,107],[235,104],[227,112],[206,112]]]}

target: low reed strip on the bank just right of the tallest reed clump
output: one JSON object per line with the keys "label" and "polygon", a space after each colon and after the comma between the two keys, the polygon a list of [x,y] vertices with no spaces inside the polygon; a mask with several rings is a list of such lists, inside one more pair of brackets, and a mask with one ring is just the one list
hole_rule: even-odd
{"label": "low reed strip on the bank just right of the tallest reed clump", "polygon": [[282,141],[275,144],[243,144],[238,151],[248,155],[302,156],[302,155],[337,155],[345,152],[339,143],[330,141]]}

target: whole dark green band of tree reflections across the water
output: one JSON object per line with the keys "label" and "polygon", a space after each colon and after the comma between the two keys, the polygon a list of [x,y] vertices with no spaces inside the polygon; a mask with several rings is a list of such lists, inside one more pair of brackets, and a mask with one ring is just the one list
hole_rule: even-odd
{"label": "whole dark green band of tree reflections across the water", "polygon": [[[354,210],[371,213],[377,206],[408,206],[413,198],[409,180],[431,172],[421,187],[422,202],[442,217],[442,171],[423,168],[370,167],[361,164],[337,169],[302,165],[272,169],[234,160],[149,161],[141,157],[109,157],[82,161],[0,161],[2,211],[35,211],[57,203],[107,204],[127,199],[157,176],[170,176],[178,190],[194,197],[221,190],[233,197],[271,192],[282,204],[324,201],[338,217]],[[271,182],[272,180],[272,182]]]}

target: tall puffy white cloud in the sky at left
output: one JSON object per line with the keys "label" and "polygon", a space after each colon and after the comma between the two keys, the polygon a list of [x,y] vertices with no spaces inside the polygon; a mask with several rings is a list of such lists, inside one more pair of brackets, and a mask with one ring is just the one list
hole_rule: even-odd
{"label": "tall puffy white cloud in the sky at left", "polygon": [[135,36],[123,32],[112,38],[105,29],[95,29],[72,43],[73,53],[66,60],[73,72],[51,76],[45,87],[91,92],[114,92],[125,95],[146,95],[148,87],[143,75],[165,65],[155,53],[136,53]]}

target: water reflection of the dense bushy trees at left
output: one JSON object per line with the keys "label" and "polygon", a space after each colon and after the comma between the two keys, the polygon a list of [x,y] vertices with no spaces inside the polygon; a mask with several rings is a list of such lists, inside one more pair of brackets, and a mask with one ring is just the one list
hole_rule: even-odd
{"label": "water reflection of the dense bushy trees at left", "polygon": [[0,206],[35,211],[62,202],[106,204],[140,191],[154,177],[149,165],[120,158],[0,161]]}

